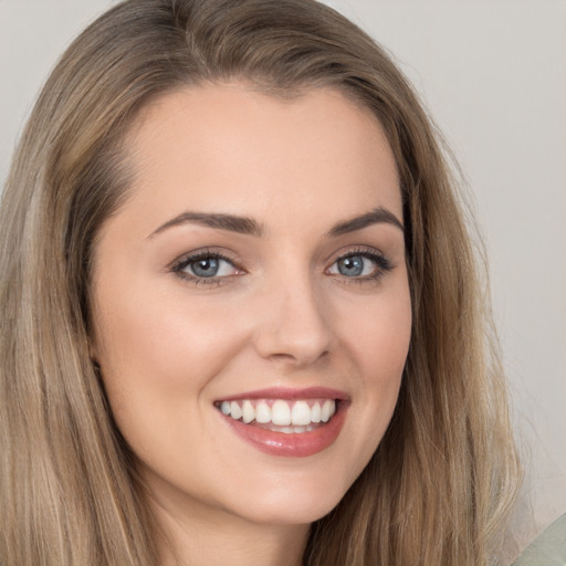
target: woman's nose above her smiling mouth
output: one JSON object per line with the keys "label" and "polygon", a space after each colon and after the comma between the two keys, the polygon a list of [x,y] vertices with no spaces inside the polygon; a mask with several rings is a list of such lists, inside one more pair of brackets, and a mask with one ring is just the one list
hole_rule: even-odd
{"label": "woman's nose above her smiling mouth", "polygon": [[255,348],[263,358],[305,367],[325,357],[333,343],[328,306],[305,281],[286,281],[266,293],[256,327]]}

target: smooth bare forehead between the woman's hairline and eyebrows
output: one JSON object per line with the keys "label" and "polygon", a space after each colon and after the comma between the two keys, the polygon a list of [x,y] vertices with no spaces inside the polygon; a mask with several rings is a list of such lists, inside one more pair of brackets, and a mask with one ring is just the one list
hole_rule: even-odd
{"label": "smooth bare forehead between the woman's hairline and eyebrows", "polygon": [[133,200],[154,216],[180,209],[279,217],[385,207],[401,216],[397,168],[366,107],[333,88],[282,98],[242,84],[167,94],[128,139]]}

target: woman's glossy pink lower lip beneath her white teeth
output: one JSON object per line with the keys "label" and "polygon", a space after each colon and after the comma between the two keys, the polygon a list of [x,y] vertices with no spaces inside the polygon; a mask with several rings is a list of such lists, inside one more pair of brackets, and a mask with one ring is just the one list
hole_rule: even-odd
{"label": "woman's glossy pink lower lip beneath her white teeth", "polygon": [[271,455],[305,458],[326,450],[338,438],[346,419],[347,403],[340,401],[333,418],[311,432],[285,433],[244,424],[239,420],[220,416],[243,440]]}

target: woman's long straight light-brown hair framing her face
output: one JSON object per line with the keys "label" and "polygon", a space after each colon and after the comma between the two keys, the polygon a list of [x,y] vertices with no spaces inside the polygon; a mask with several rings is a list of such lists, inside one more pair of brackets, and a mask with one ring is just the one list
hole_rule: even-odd
{"label": "woman's long straight light-brown hair framing her face", "polygon": [[446,151],[411,86],[313,0],[128,0],[65,52],[0,210],[0,562],[156,563],[156,530],[90,358],[96,235],[127,197],[125,139],[164,94],[245,81],[369,107],[405,206],[412,338],[377,452],[317,521],[308,566],[497,564],[518,479],[504,379]]}

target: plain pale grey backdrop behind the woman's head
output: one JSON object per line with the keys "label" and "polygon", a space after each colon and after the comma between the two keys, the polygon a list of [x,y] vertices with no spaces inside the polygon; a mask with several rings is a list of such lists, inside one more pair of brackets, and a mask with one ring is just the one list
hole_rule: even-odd
{"label": "plain pale grey backdrop behind the woman's head", "polygon": [[[114,3],[0,0],[0,182],[54,62]],[[534,532],[566,511],[566,0],[327,3],[390,50],[473,191]]]}

